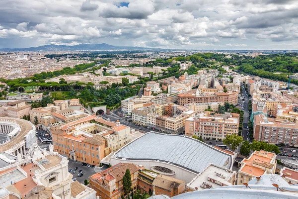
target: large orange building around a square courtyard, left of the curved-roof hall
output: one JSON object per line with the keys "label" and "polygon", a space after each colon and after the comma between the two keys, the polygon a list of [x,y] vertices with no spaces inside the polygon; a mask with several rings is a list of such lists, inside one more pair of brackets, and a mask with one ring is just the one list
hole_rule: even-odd
{"label": "large orange building around a square courtyard, left of the curved-roof hall", "polygon": [[89,115],[69,123],[50,125],[54,150],[91,165],[130,142],[130,127]]}

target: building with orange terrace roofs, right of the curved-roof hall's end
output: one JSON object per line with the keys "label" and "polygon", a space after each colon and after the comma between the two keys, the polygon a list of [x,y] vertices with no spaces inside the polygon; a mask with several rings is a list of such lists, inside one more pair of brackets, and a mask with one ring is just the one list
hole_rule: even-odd
{"label": "building with orange terrace roofs, right of the curved-roof hall's end", "polygon": [[241,161],[238,171],[237,185],[248,183],[252,178],[265,174],[274,174],[276,169],[276,154],[268,151],[254,151],[249,158]]}

